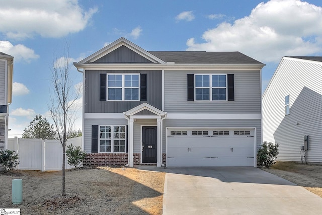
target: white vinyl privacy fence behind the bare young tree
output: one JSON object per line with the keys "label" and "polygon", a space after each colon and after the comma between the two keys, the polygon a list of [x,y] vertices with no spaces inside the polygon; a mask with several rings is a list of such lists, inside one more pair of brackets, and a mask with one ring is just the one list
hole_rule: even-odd
{"label": "white vinyl privacy fence behind the bare young tree", "polygon": [[[68,139],[67,146],[70,144],[82,147],[82,137]],[[62,146],[58,140],[9,138],[8,150],[18,153],[20,170],[62,170]],[[65,159],[65,169],[74,168],[67,163],[67,156]]]}

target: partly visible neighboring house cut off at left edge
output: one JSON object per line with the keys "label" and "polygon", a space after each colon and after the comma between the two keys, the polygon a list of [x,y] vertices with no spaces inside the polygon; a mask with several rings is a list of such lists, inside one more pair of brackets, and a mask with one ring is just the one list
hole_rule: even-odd
{"label": "partly visible neighboring house cut off at left edge", "polygon": [[14,57],[0,52],[0,150],[7,147]]}

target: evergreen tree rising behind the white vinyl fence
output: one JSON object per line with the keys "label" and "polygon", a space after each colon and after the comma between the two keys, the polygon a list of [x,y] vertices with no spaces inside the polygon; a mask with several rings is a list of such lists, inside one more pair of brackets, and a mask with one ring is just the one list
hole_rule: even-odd
{"label": "evergreen tree rising behind the white vinyl fence", "polygon": [[22,138],[55,139],[55,136],[54,126],[50,125],[47,118],[43,118],[41,114],[36,115],[22,134]]}

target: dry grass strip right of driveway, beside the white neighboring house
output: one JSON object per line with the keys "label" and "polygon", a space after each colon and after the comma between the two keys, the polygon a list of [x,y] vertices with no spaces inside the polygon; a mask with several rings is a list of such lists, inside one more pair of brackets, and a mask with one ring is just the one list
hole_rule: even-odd
{"label": "dry grass strip right of driveway, beside the white neighboring house", "polygon": [[322,197],[322,165],[276,162],[270,169],[264,170]]}

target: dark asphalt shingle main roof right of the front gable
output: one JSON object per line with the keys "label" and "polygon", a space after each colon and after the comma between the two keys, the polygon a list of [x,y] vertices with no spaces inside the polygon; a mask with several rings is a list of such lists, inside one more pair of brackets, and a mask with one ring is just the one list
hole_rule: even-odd
{"label": "dark asphalt shingle main roof right of the front gable", "polygon": [[238,51],[149,51],[165,62],[175,63],[262,63]]}

